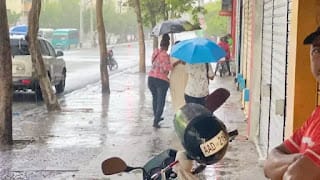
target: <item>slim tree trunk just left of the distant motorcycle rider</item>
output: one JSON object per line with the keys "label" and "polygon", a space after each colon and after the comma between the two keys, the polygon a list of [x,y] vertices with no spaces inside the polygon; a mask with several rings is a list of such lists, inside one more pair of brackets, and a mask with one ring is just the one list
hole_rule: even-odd
{"label": "slim tree trunk just left of the distant motorcycle rider", "polygon": [[99,49],[100,49],[100,78],[102,93],[110,94],[109,86],[109,73],[106,61],[107,56],[107,44],[106,44],[106,33],[103,23],[103,0],[96,1],[96,18],[97,18],[97,31],[99,38]]}

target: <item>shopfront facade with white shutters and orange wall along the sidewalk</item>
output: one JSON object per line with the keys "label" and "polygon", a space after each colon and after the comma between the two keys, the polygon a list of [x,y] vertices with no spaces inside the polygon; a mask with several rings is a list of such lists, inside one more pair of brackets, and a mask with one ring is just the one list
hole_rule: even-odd
{"label": "shopfront facade with white shutters and orange wall along the sidewalk", "polygon": [[234,0],[237,85],[262,159],[319,104],[303,45],[320,25],[319,8],[317,0]]}

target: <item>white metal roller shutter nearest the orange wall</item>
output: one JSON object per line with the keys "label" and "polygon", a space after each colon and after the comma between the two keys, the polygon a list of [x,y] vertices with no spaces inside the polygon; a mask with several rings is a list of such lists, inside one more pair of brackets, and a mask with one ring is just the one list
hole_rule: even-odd
{"label": "white metal roller shutter nearest the orange wall", "polygon": [[287,86],[288,1],[274,0],[272,38],[272,77],[269,149],[284,137],[285,97]]}

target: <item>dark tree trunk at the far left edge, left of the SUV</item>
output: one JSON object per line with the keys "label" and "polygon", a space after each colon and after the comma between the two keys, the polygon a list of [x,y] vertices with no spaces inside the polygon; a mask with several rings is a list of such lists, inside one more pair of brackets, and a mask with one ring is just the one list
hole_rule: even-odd
{"label": "dark tree trunk at the far left edge, left of the SUV", "polygon": [[12,144],[12,61],[6,1],[0,1],[0,144]]}

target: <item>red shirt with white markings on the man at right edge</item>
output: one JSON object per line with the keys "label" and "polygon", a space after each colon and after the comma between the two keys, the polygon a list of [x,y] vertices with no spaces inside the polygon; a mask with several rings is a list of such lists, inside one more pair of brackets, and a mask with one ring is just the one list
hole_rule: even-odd
{"label": "red shirt with white markings on the man at right edge", "polygon": [[284,145],[291,153],[301,153],[320,167],[320,107]]}

